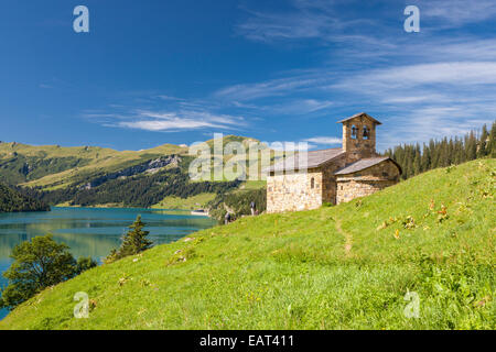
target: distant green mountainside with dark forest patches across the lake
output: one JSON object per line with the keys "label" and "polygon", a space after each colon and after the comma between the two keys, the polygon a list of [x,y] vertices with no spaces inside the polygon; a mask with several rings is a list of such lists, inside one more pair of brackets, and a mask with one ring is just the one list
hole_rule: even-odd
{"label": "distant green mountainside with dark forest patches across the lake", "polygon": [[[226,146],[230,142],[241,142],[247,147],[255,140],[227,135],[222,144]],[[213,140],[206,143],[211,147],[214,145]],[[224,155],[223,162],[238,157],[233,151]],[[215,185],[191,182],[188,167],[193,158],[187,146],[172,144],[119,152],[93,146],[0,142],[0,182],[21,186],[26,196],[50,205],[74,206],[152,207],[162,204],[162,207],[191,208],[198,204],[198,199],[192,197],[213,193],[211,197],[201,197],[204,206],[224,191],[224,186],[233,188],[227,179]],[[180,199],[164,199],[168,197]]]}

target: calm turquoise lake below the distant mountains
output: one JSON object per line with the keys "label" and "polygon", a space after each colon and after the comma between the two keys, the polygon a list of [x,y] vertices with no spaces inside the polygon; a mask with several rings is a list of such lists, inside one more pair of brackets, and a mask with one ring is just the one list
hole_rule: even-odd
{"label": "calm turquoise lake below the distant mountains", "polygon": [[[67,244],[76,258],[90,255],[101,262],[111,249],[119,246],[120,238],[138,215],[154,244],[173,242],[217,223],[188,212],[137,208],[53,208],[46,212],[0,213],[0,273],[12,263],[9,255],[14,245],[45,233]],[[6,285],[7,280],[0,277],[0,286]],[[0,310],[0,319],[7,312]]]}

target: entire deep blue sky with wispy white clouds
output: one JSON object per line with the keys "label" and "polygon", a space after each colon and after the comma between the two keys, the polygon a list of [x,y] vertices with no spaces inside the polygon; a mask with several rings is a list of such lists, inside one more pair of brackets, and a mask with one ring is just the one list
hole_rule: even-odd
{"label": "entire deep blue sky with wispy white clouds", "polygon": [[494,0],[2,0],[0,45],[1,141],[333,147],[336,121],[366,111],[382,150],[496,117]]}

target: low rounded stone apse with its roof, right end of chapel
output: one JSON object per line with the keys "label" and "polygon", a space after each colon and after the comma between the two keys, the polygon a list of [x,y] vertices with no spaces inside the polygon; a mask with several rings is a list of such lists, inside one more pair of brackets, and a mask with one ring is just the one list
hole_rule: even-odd
{"label": "low rounded stone apse with its roof, right end of chapel", "polygon": [[337,177],[336,204],[369,196],[392,186],[399,180],[399,169],[391,161],[385,161],[370,168]]}

